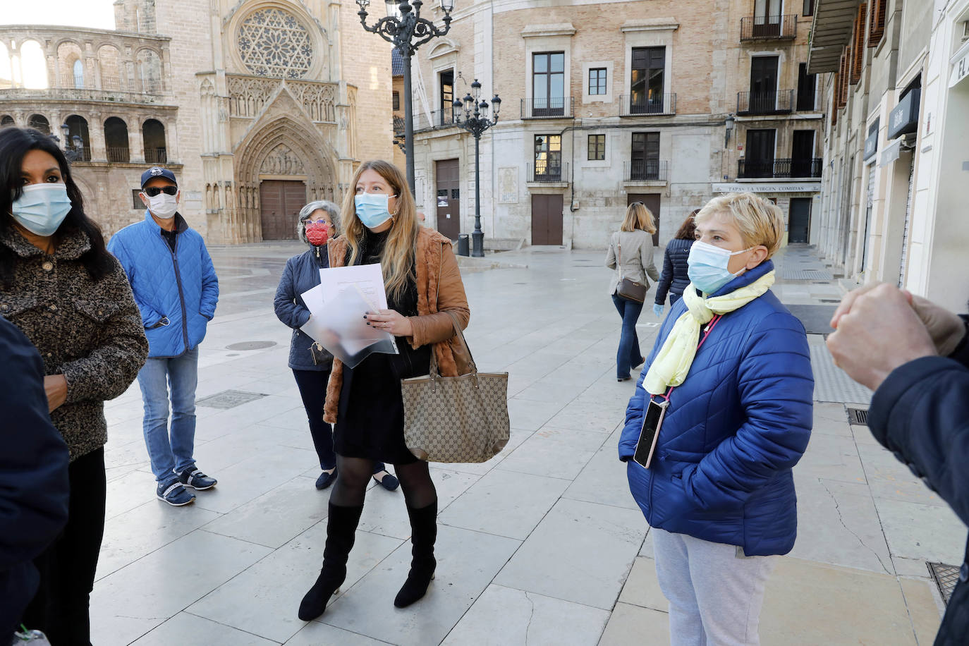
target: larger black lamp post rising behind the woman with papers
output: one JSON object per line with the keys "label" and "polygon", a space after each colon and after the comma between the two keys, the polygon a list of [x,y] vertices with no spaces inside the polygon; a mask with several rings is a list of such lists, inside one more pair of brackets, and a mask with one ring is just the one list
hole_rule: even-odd
{"label": "larger black lamp post rising behind the woman with papers", "polygon": [[418,47],[432,38],[444,36],[451,30],[451,12],[454,0],[441,0],[444,11],[444,29],[438,29],[427,18],[421,17],[421,0],[386,0],[387,16],[377,20],[372,27],[366,26],[366,8],[370,0],[357,0],[360,24],[370,33],[378,34],[396,47],[404,59],[404,154],[407,155],[407,184],[414,191],[414,108],[411,101],[411,55]]}

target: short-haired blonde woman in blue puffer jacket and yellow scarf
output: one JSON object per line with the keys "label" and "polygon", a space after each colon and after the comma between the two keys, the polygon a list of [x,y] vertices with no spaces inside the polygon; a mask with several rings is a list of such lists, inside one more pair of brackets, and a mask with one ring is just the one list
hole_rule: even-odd
{"label": "short-haired blonde woman in blue puffer jacket and yellow scarf", "polygon": [[[803,326],[769,291],[780,210],[725,196],[696,225],[691,284],[646,359],[619,458],[653,528],[672,644],[758,644],[767,576],[797,536],[792,468],[811,434],[814,379]],[[647,462],[637,443],[657,405]]]}

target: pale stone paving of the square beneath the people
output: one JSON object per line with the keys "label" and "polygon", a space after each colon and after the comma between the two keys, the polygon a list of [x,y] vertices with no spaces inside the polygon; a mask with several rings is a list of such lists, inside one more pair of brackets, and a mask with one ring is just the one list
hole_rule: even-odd
{"label": "pale stone paving of the square beneath the people", "polygon": [[[320,621],[298,621],[322,559],[328,502],[313,487],[319,467],[286,366],[290,332],[270,302],[298,251],[212,250],[231,280],[202,345],[199,395],[266,397],[198,408],[197,456],[219,485],[195,506],[154,498],[137,384],[107,403],[109,522],[92,597],[95,643],[669,643],[651,537],[615,457],[633,385],[614,379],[619,320],[599,252],[526,249],[507,261],[527,268],[465,276],[475,357],[485,370],[511,371],[511,441],[485,464],[432,467],[440,565],[424,600],[392,606],[410,528],[400,492],[371,486],[343,591]],[[788,249],[778,266],[790,254],[815,268],[812,253]],[[783,277],[773,291],[804,305],[841,293],[836,283]],[[642,354],[657,330],[643,314]],[[230,349],[250,341],[275,345]],[[799,536],[771,578],[763,642],[928,643],[940,608],[924,560],[952,560],[965,528],[866,428],[847,423],[844,402],[867,397],[824,374],[823,344],[812,337],[815,375],[832,401],[816,402],[815,432],[795,469]]]}

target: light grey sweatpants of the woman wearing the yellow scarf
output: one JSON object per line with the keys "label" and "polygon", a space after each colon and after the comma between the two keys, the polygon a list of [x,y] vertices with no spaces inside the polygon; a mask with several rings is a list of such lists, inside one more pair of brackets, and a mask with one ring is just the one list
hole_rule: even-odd
{"label": "light grey sweatpants of the woman wearing the yellow scarf", "polygon": [[776,557],[651,529],[656,575],[670,601],[671,646],[758,646],[767,576]]}

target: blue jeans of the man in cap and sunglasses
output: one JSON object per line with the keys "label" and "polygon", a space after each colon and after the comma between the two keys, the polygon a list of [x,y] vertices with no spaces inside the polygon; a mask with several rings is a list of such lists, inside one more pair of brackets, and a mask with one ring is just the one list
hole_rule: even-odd
{"label": "blue jeans of the man in cap and sunglasses", "polygon": [[[138,373],[144,402],[144,444],[151,473],[160,484],[195,468],[195,388],[199,384],[199,348],[174,358],[149,358]],[[169,433],[169,386],[172,387],[172,432]]]}

